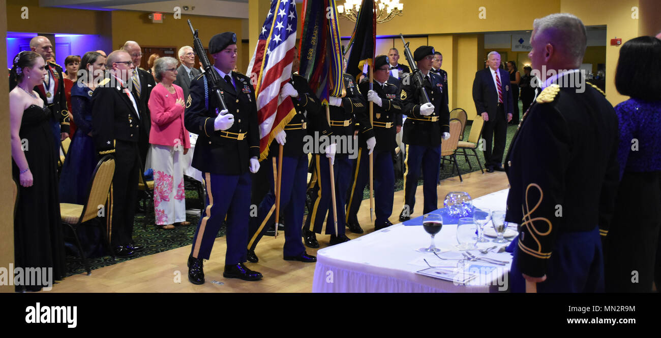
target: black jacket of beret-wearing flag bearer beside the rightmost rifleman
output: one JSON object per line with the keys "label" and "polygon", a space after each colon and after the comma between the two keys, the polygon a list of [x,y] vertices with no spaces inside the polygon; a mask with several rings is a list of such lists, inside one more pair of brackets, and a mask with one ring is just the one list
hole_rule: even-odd
{"label": "black jacket of beret-wearing flag bearer beside the rightmost rifleman", "polygon": [[[362,81],[359,88],[364,100],[368,102],[366,112],[369,116],[369,80]],[[401,102],[397,100],[399,89],[397,88],[397,85],[391,83],[386,82],[381,86],[374,81],[372,90],[374,90],[377,95],[379,95],[379,98],[381,98],[381,107],[377,104],[373,104],[374,123],[372,127],[374,137],[376,138],[374,152],[393,151],[397,148],[397,141],[395,140],[395,137],[397,136],[397,125],[402,125]],[[358,145],[360,145],[360,147],[367,147],[366,141],[366,137],[359,135]]]}

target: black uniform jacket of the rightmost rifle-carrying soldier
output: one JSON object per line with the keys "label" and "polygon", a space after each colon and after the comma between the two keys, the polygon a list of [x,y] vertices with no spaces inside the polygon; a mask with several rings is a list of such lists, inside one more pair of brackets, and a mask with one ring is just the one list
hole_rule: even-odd
{"label": "black uniform jacket of the rightmost rifle-carrying soldier", "polygon": [[447,110],[447,100],[443,92],[443,79],[432,72],[428,75],[431,82],[424,81],[424,90],[434,104],[434,113],[430,116],[420,115],[422,93],[414,85],[411,75],[401,81],[399,100],[402,103],[402,112],[408,117],[404,122],[402,141],[407,145],[435,147],[441,144],[442,134],[450,131],[450,112]]}

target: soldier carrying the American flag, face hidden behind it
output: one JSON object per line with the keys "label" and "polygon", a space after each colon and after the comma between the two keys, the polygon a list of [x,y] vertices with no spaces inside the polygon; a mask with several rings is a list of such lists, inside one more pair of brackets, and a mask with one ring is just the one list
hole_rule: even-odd
{"label": "soldier carrying the American flag, face hidden behind it", "polygon": [[[305,211],[305,190],[307,189],[307,153],[303,150],[303,140],[306,135],[314,136],[315,131],[321,135],[330,135],[331,131],[325,114],[321,112],[321,102],[313,94],[304,77],[298,75],[298,53],[292,63],[292,79],[280,90],[280,96],[290,96],[296,114],[284,126],[284,130],[276,135],[268,151],[268,160],[262,162],[268,168],[266,174],[270,180],[270,190],[262,199],[257,217],[250,220],[248,237],[248,260],[257,263],[258,257],[254,248],[270,226],[276,222],[276,189],[278,152],[282,147],[282,178],[280,181],[280,211],[284,212],[285,244],[284,259],[286,261],[303,261],[311,263],[317,257],[308,255],[301,240],[303,228],[303,212]],[[266,169],[264,168],[264,169]],[[262,169],[263,170],[263,169]]]}

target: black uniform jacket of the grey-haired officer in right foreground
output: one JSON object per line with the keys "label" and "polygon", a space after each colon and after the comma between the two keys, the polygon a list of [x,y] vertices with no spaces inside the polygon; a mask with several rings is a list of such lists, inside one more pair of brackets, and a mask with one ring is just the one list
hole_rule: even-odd
{"label": "black uniform jacket of the grey-haired officer in right foreground", "polygon": [[615,110],[600,91],[543,90],[512,139],[506,221],[520,225],[520,269],[541,277],[559,232],[583,232],[610,219],[619,181]]}

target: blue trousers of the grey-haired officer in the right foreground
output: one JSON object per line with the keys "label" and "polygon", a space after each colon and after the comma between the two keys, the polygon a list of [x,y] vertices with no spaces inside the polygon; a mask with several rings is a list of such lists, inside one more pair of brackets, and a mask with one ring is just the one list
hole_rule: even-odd
{"label": "blue trousers of the grey-haired officer in the right foreground", "polygon": [[[521,235],[519,235],[521,236]],[[599,227],[582,232],[559,232],[547,263],[546,281],[537,292],[604,292],[602,239]],[[512,241],[514,257],[510,270],[510,292],[525,292],[525,279],[518,267],[518,238]]]}

